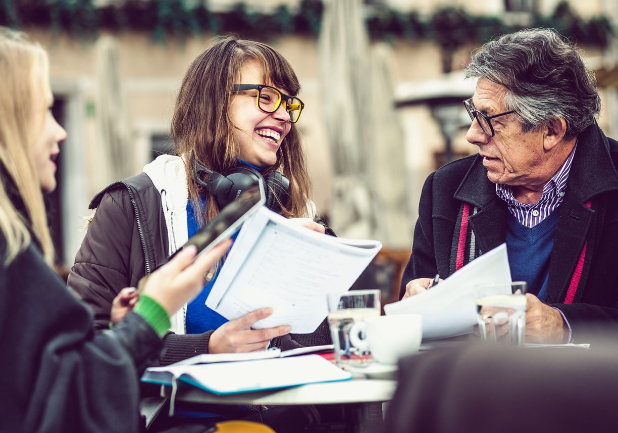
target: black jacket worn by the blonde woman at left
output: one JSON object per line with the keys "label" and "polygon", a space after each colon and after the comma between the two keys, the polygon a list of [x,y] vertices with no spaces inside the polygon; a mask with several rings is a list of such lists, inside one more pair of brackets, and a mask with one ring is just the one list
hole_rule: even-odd
{"label": "black jacket worn by the blonde woman at left", "polygon": [[35,247],[0,267],[1,432],[138,431],[135,367],[161,340],[133,312],[114,331],[92,322]]}

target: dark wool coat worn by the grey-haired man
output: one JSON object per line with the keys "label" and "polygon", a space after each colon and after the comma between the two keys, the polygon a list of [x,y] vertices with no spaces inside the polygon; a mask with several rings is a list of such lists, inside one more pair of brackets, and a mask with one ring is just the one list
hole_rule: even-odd
{"label": "dark wool coat worn by the grey-haired man", "polygon": [[[560,309],[577,341],[608,328],[618,335],[618,142],[596,123],[578,136],[549,263],[546,301]],[[586,202],[591,200],[591,208]],[[423,186],[412,255],[400,297],[415,278],[451,273],[455,220],[462,202],[478,207],[468,217],[481,252],[506,239],[508,209],[487,178],[480,156],[468,156],[430,174]],[[565,294],[586,245],[586,260],[572,304]]]}

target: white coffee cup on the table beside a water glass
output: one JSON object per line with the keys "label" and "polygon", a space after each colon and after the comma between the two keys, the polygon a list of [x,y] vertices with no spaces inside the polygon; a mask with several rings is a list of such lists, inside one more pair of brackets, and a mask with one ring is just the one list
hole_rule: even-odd
{"label": "white coffee cup on the table beside a water glass", "polygon": [[368,317],[350,330],[352,344],[371,351],[372,358],[382,364],[397,364],[399,358],[417,352],[422,336],[420,314]]}

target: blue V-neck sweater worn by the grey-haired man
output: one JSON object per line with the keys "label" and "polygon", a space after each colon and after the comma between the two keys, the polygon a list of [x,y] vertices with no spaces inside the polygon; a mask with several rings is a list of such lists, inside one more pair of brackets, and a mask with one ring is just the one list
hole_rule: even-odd
{"label": "blue V-neck sweater worn by the grey-haired man", "polygon": [[522,225],[510,213],[507,220],[506,247],[511,277],[513,281],[526,281],[528,293],[541,301],[547,297],[549,259],[559,218],[558,207],[532,228]]}

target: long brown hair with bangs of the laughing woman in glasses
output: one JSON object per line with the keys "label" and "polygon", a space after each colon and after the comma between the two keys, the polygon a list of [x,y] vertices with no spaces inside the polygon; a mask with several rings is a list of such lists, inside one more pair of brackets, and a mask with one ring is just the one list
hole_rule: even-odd
{"label": "long brown hair with bangs of the laughing woman in glasses", "polygon": [[[176,153],[184,157],[189,198],[193,203],[198,202],[200,194],[208,193],[193,181],[189,156],[218,173],[233,168],[240,158],[240,144],[234,138],[236,127],[232,124],[229,106],[235,95],[232,86],[237,84],[242,67],[248,61],[260,62],[265,75],[263,82],[270,81],[291,95],[298,95],[300,91],[294,69],[271,46],[234,36],[218,36],[211,41],[187,69],[171,126]],[[277,150],[276,163],[263,169],[263,174],[271,170],[280,171],[290,179],[290,204],[282,215],[313,217],[308,215],[311,182],[305,152],[294,124]],[[216,200],[208,197],[203,217],[208,221],[218,212]]]}

